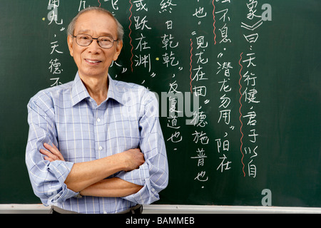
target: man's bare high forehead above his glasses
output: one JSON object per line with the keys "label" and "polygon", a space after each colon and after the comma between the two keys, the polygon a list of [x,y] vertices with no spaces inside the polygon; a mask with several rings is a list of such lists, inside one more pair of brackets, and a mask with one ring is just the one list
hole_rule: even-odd
{"label": "man's bare high forehead above his glasses", "polygon": [[85,32],[92,34],[117,34],[117,24],[112,16],[100,11],[88,11],[78,17],[75,24],[75,33]]}

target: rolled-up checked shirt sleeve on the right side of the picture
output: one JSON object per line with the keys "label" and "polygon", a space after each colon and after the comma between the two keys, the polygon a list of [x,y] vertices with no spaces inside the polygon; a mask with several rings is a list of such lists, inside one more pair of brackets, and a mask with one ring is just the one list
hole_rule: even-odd
{"label": "rolled-up checked shirt sleeve on the right side of the picture", "polygon": [[159,199],[158,193],[168,185],[168,160],[165,141],[158,118],[158,101],[148,93],[143,105],[143,116],[139,121],[140,148],[145,162],[131,172],[120,172],[117,177],[143,186],[136,194],[123,197],[138,204],[151,204]]}

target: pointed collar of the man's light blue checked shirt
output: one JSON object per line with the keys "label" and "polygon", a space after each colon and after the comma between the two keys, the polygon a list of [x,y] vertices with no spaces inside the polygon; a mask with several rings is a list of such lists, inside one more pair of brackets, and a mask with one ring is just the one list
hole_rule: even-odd
{"label": "pointed collar of the man's light blue checked shirt", "polygon": [[[81,100],[89,97],[90,95],[85,85],[83,85],[83,82],[81,81],[81,78],[79,77],[79,74],[77,72],[76,77],[73,81],[73,87],[71,89],[72,105],[76,105],[77,103],[81,102]],[[113,81],[111,76],[108,75],[108,93],[106,100],[108,100],[109,98],[112,98],[113,100],[116,100],[118,103],[123,104],[123,96],[121,91],[116,86],[116,82]]]}

